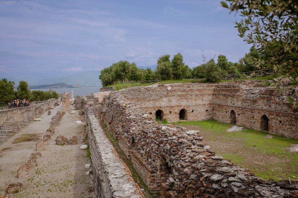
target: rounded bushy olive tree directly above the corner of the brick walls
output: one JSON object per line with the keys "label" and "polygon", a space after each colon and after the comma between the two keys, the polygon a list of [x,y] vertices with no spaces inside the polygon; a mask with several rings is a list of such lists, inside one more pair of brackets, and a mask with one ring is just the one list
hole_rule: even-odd
{"label": "rounded bushy olive tree directly above the corner of the brick walls", "polygon": [[214,59],[211,59],[206,64],[204,64],[203,68],[204,76],[209,82],[217,82],[227,76],[227,71],[224,71],[221,67],[219,67],[214,62]]}

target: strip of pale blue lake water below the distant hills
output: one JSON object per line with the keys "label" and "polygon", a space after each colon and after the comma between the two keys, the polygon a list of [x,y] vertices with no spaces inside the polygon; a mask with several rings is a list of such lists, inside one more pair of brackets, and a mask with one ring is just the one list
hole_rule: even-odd
{"label": "strip of pale blue lake water below the distant hills", "polygon": [[[97,93],[99,92],[100,87],[80,87],[80,88],[54,88],[53,90],[59,94],[63,92],[69,93],[69,97],[71,97],[71,91],[74,91],[74,97],[76,96],[83,96],[83,95],[90,95],[91,92]],[[50,89],[30,89],[32,90],[41,90],[41,91],[50,91]]]}

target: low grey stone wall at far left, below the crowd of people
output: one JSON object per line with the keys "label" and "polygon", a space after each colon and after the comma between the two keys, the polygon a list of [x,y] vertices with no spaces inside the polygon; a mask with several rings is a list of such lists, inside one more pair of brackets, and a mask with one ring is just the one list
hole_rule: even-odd
{"label": "low grey stone wall at far left, below the crowd of people", "polygon": [[49,110],[56,101],[57,99],[52,98],[27,107],[0,111],[0,145],[18,133],[22,127],[29,125],[34,118]]}

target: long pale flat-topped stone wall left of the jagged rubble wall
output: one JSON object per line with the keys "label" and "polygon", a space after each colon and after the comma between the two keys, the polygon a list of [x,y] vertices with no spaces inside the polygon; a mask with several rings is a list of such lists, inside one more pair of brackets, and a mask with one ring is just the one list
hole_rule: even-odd
{"label": "long pale flat-topped stone wall left of the jagged rubble wall", "polygon": [[84,96],[88,143],[94,175],[96,198],[141,198],[140,188],[133,181],[127,166],[117,156],[93,111],[92,96]]}

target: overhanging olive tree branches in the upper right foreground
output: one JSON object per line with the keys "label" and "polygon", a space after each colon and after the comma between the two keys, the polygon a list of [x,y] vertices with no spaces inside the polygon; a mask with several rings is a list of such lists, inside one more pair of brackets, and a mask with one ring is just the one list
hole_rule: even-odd
{"label": "overhanging olive tree branches in the upper right foreground", "polygon": [[[263,52],[273,52],[269,58],[252,57],[249,62],[260,69],[273,67],[278,71],[274,86],[285,80],[289,80],[290,88],[297,85],[298,1],[226,0],[221,5],[231,12],[241,12],[242,19],[235,22],[235,27],[244,41]],[[293,103],[298,107],[298,101]]]}

